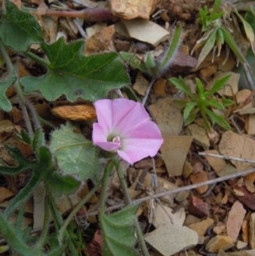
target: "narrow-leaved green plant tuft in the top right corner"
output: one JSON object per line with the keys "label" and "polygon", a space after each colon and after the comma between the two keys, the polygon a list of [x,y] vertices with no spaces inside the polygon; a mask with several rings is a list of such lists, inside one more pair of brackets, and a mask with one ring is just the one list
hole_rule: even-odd
{"label": "narrow-leaved green plant tuft in the top right corner", "polygon": [[[196,67],[201,64],[201,62],[212,49],[213,52],[218,49],[217,56],[219,56],[221,54],[222,45],[225,41],[227,47],[229,47],[234,52],[235,56],[237,56],[237,59],[241,63],[247,62],[244,57],[245,53],[243,50],[241,50],[242,47],[240,47],[240,43],[239,45],[237,43],[237,41],[240,41],[240,37],[242,36],[240,27],[237,22],[237,17],[244,26],[245,35],[250,41],[252,50],[255,54],[254,33],[250,24],[242,18],[242,16],[238,13],[237,8],[231,8],[231,11],[217,12],[220,6],[221,0],[216,0],[210,14],[207,6],[205,6],[203,10],[199,10],[200,18],[198,19],[198,22],[202,25],[202,31],[205,33],[200,38],[200,40],[196,42],[196,45],[191,51],[191,54],[193,54],[194,50],[204,45],[198,57],[198,64]],[[238,10],[242,10],[242,8],[239,8]],[[234,31],[238,31],[238,33],[235,34],[233,33]]]}

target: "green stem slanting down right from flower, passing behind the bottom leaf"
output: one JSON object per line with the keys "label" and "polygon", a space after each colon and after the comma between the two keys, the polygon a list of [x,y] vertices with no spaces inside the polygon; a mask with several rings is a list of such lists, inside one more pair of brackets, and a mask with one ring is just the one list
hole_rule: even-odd
{"label": "green stem slanting down right from flower, passing behind the bottom leaf", "polygon": [[[115,161],[115,167],[116,167],[117,172],[118,172],[120,186],[122,188],[126,203],[127,204],[132,204],[132,199],[131,199],[131,197],[129,195],[129,192],[128,192],[128,185],[126,183],[126,179],[124,177],[124,174],[122,172],[122,169],[121,169],[118,161]],[[137,219],[136,216],[135,216],[135,230],[136,230],[136,236],[137,236],[140,248],[142,250],[143,256],[149,256],[150,254],[147,250],[147,246],[145,245],[145,241],[143,239],[142,229],[139,225],[139,222],[138,222],[138,219]]]}

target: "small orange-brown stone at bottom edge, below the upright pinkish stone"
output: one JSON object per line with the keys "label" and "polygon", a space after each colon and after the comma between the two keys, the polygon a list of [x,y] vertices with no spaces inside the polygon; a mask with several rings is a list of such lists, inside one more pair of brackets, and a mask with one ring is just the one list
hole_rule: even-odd
{"label": "small orange-brown stone at bottom edge, below the upright pinkish stone", "polygon": [[233,246],[235,245],[232,243],[232,238],[230,236],[217,235],[208,241],[205,250],[208,252],[219,252],[220,249],[226,251]]}

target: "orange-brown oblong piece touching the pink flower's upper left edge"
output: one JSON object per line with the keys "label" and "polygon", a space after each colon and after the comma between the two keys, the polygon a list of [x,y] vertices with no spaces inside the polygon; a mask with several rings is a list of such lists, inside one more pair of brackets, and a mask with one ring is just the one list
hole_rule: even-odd
{"label": "orange-brown oblong piece touching the pink flower's upper left edge", "polygon": [[76,106],[59,106],[54,107],[51,112],[62,119],[73,121],[84,121],[96,119],[96,109],[92,104]]}

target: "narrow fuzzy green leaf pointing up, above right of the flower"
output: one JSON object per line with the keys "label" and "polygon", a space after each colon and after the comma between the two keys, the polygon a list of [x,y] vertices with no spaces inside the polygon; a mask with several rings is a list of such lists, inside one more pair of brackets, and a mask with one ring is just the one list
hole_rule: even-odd
{"label": "narrow fuzzy green leaf pointing up, above right of the flower", "polygon": [[178,50],[181,34],[182,34],[182,27],[179,26],[175,29],[175,33],[173,34],[173,40],[171,40],[170,47],[166,52],[166,57],[163,59],[163,62],[160,64],[158,72],[161,72],[162,70],[166,70],[167,68],[170,67],[172,58]]}

